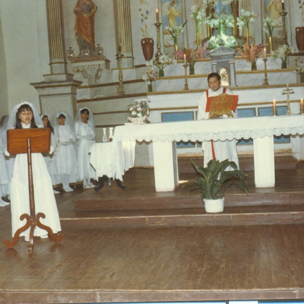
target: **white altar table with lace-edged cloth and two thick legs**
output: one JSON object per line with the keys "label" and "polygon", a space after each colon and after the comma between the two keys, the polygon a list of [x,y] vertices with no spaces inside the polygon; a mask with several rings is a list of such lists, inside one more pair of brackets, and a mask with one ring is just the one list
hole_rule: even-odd
{"label": "white altar table with lace-edged cloth and two thick legs", "polygon": [[[174,191],[178,186],[176,142],[203,140],[253,139],[256,187],[275,186],[273,136],[304,134],[304,117],[267,116],[213,119],[118,126],[113,136],[114,149],[122,142],[152,141],[157,192]],[[135,147],[134,147],[135,148]]]}

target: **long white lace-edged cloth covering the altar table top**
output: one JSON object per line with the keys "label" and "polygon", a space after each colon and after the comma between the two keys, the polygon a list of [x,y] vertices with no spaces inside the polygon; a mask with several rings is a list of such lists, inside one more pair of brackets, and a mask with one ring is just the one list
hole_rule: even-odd
{"label": "long white lace-edged cloth covering the altar table top", "polygon": [[203,141],[304,134],[304,116],[267,116],[118,126],[113,141]]}

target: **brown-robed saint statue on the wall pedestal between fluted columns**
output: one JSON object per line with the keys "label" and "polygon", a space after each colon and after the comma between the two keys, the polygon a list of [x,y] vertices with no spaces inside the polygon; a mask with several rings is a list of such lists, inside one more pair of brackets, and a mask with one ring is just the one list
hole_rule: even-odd
{"label": "brown-robed saint statue on the wall pedestal between fluted columns", "polygon": [[92,0],[78,0],[74,14],[75,20],[75,35],[79,46],[79,52],[90,50],[90,54],[95,54],[95,30],[94,17],[97,7]]}

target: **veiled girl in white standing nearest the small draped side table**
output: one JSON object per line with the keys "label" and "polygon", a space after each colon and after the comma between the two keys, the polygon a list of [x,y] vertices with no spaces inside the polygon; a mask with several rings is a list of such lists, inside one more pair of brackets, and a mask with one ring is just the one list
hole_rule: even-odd
{"label": "veiled girl in white standing nearest the small draped side table", "polygon": [[75,117],[75,132],[78,139],[78,178],[83,180],[85,189],[94,187],[91,178],[95,178],[95,170],[90,164],[89,150],[95,143],[95,124],[91,111],[87,107],[80,108]]}

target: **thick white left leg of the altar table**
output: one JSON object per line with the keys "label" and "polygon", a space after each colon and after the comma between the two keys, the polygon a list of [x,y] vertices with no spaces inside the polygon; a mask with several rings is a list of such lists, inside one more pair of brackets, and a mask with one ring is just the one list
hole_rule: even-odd
{"label": "thick white left leg of the altar table", "polygon": [[178,168],[175,141],[153,142],[155,189],[174,191],[178,186]]}

